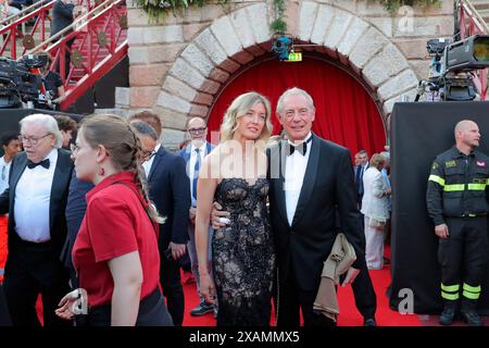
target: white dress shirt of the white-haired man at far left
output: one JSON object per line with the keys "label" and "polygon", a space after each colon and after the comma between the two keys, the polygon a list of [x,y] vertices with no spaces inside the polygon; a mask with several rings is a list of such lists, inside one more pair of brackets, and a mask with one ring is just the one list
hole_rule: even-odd
{"label": "white dress shirt of the white-haired man at far left", "polygon": [[15,232],[21,239],[33,243],[51,239],[49,207],[58,149],[52,149],[45,159],[49,159],[49,169],[26,166],[15,188]]}

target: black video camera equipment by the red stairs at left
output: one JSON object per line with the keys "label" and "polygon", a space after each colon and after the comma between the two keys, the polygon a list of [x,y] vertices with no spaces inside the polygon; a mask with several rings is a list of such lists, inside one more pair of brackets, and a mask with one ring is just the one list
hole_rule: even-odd
{"label": "black video camera equipment by the red stairs at left", "polygon": [[47,62],[48,57],[42,54],[27,54],[18,61],[0,57],[0,109],[50,103],[50,96],[40,92],[42,77],[38,74]]}

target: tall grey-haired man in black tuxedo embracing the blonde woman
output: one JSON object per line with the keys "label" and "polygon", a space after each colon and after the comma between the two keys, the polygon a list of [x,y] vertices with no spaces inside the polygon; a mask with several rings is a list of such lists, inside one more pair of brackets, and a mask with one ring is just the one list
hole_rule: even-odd
{"label": "tall grey-haired man in black tuxedo embracing the blonde woman", "polygon": [[[356,207],[350,151],[315,136],[315,108],[311,96],[290,88],[277,102],[278,121],[287,139],[267,150],[269,216],[278,257],[277,325],[305,326],[334,323],[313,311],[323,271],[338,228],[353,246],[356,261],[342,286],[351,284],[365,263],[365,236]],[[350,173],[350,175],[348,175]],[[213,226],[217,215],[213,211]]]}

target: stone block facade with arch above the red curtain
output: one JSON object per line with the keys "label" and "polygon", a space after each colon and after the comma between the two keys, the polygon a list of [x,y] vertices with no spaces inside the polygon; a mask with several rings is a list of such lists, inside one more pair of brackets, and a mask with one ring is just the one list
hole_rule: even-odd
{"label": "stone block facade with arch above the red curtain", "polygon": [[[163,142],[184,140],[190,116],[206,117],[214,96],[242,65],[271,48],[273,1],[241,0],[191,8],[152,23],[128,1],[130,88],[117,88],[123,114],[149,109],[161,114]],[[383,119],[402,98],[414,99],[427,77],[426,41],[453,34],[453,1],[404,7],[391,16],[374,0],[288,1],[288,33],[338,59],[372,89]]]}

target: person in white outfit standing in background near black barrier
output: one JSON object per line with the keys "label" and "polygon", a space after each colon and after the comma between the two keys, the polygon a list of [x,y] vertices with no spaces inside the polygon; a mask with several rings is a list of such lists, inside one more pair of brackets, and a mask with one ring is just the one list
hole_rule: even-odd
{"label": "person in white outfit standing in background near black barrier", "polygon": [[386,159],[375,153],[368,169],[363,175],[362,214],[365,219],[365,259],[369,270],[381,270],[384,266],[384,227],[389,219],[388,195],[381,170]]}

